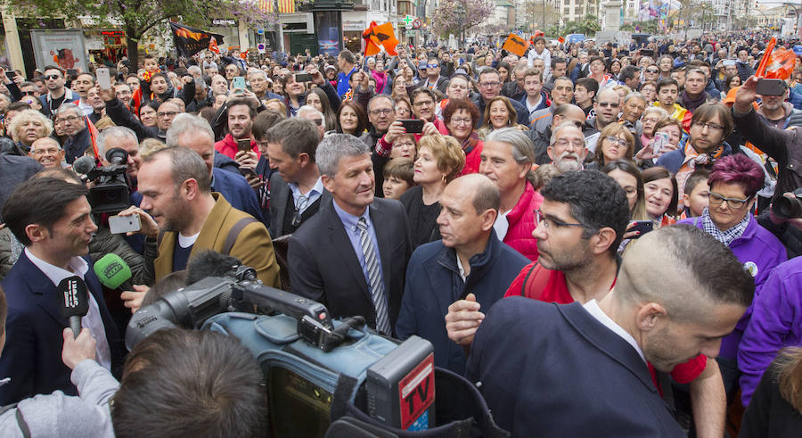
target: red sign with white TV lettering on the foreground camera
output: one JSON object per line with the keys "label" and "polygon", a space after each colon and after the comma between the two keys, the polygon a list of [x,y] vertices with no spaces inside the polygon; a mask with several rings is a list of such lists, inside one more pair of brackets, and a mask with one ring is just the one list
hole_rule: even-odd
{"label": "red sign with white TV lettering on the foreground camera", "polygon": [[401,428],[411,426],[434,402],[434,353],[423,359],[398,383]]}

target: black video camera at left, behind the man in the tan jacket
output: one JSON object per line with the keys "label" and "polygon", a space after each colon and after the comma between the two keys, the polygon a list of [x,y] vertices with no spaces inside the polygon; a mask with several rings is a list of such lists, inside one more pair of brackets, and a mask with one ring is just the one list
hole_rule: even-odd
{"label": "black video camera at left, behind the man in the tan jacket", "polygon": [[106,151],[110,166],[97,167],[94,158],[84,156],[72,164],[72,169],[83,175],[83,182],[94,182],[89,189],[89,204],[92,212],[119,213],[131,205],[130,181],[127,176],[128,153],[125,149],[114,147]]}

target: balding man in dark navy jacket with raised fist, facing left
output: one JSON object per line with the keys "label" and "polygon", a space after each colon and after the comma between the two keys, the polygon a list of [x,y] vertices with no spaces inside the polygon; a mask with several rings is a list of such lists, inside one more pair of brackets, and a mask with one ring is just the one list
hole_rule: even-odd
{"label": "balding man in dark navy jacket with raised fist, facing left", "polygon": [[443,239],[419,246],[409,260],[396,335],[429,340],[435,365],[464,374],[465,351],[446,334],[448,306],[471,293],[473,301],[490,309],[529,260],[495,236],[501,196],[489,178],[454,179],[440,204]]}

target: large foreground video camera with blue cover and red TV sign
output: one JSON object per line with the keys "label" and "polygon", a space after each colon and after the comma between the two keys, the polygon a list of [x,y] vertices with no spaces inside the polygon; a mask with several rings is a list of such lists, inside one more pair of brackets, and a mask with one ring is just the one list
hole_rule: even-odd
{"label": "large foreground video camera with blue cover and red TV sign", "polygon": [[[209,254],[216,253],[196,259]],[[127,326],[127,348],[172,327],[239,338],[265,373],[272,436],[323,437],[347,415],[362,415],[388,430],[436,426],[429,341],[412,336],[400,343],[367,329],[362,317],[332,320],[323,304],[262,285],[248,267],[233,266],[223,275],[228,267],[218,262],[198,269],[218,277],[201,278],[136,311]]]}

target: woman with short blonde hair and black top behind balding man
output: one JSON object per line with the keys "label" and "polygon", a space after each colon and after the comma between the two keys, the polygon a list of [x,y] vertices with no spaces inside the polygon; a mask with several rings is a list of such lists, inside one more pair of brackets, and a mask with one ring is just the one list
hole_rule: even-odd
{"label": "woman with short blonde hair and black top behind balding man", "polygon": [[414,186],[401,195],[413,249],[440,238],[440,196],[465,165],[465,153],[453,136],[421,136],[414,164]]}

